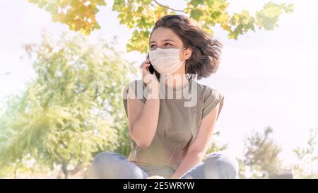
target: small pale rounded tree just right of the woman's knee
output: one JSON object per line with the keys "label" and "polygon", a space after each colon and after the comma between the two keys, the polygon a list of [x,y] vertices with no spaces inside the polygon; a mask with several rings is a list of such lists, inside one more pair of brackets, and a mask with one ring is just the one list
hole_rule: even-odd
{"label": "small pale rounded tree just right of the woman's knee", "polygon": [[266,127],[264,132],[253,132],[245,139],[245,169],[252,172],[252,177],[273,177],[281,168],[278,158],[281,148],[271,139],[273,129]]}

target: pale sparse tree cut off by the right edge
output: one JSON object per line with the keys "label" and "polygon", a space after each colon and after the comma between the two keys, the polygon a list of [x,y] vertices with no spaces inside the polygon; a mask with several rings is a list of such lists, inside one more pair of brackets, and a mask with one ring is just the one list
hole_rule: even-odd
{"label": "pale sparse tree cut off by the right edge", "polygon": [[314,169],[318,161],[317,131],[310,129],[310,136],[305,147],[294,149],[297,161],[293,173],[298,178],[318,178],[318,170]]}

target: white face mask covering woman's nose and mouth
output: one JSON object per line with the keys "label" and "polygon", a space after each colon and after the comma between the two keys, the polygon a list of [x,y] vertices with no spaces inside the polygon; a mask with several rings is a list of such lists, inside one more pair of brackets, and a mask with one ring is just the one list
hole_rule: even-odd
{"label": "white face mask covering woman's nose and mouth", "polygon": [[182,49],[157,48],[149,51],[149,60],[160,74],[172,74],[183,64],[179,58],[179,50]]}

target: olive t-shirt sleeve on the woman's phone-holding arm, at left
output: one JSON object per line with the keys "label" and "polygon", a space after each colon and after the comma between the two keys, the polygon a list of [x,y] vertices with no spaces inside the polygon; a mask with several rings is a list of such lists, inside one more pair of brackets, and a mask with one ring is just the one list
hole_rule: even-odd
{"label": "olive t-shirt sleeve on the woman's phone-holding arm, at left", "polygon": [[127,116],[128,116],[127,100],[128,100],[130,91],[134,94],[134,97],[136,99],[139,99],[141,100],[141,102],[146,103],[146,98],[148,95],[148,87],[146,87],[142,79],[131,81],[130,83],[126,84],[126,86],[124,86],[122,99],[123,99],[124,109]]}

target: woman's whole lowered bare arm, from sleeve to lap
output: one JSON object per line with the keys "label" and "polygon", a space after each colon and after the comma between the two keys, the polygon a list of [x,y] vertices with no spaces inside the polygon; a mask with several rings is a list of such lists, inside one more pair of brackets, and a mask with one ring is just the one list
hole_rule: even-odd
{"label": "woman's whole lowered bare arm, from sleeve to lap", "polygon": [[214,107],[214,109],[202,119],[196,139],[194,139],[193,143],[189,146],[187,155],[184,157],[182,163],[180,163],[179,167],[170,178],[180,178],[185,172],[199,164],[204,158],[204,155],[208,150],[208,145],[211,143],[219,105],[220,104],[216,105],[216,107]]}

